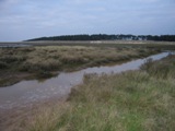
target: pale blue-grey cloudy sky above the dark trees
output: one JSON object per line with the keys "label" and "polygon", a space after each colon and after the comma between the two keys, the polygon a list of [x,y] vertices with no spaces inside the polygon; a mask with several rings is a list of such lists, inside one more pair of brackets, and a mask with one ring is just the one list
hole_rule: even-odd
{"label": "pale blue-grey cloudy sky above the dark trees", "polygon": [[75,34],[175,35],[175,0],[0,0],[0,41]]}

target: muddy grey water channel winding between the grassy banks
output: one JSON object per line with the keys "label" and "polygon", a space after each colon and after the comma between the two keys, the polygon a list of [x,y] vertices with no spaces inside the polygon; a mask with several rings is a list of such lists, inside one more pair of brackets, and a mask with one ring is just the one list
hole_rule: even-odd
{"label": "muddy grey water channel winding between the grassy banks", "polygon": [[[162,52],[151,56],[153,60],[166,57],[170,52]],[[44,82],[37,80],[22,81],[8,87],[0,87],[0,109],[10,109],[13,107],[25,107],[26,105],[46,100],[51,97],[66,97],[71,87],[82,83],[83,75],[88,73],[119,73],[127,70],[136,70],[145,61],[138,59],[113,67],[88,68],[77,72],[60,73],[56,78],[48,79]]]}

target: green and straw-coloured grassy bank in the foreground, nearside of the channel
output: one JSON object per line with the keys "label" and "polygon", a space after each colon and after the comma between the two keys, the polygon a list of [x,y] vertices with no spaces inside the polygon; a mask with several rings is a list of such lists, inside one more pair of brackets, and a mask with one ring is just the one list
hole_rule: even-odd
{"label": "green and straw-coloured grassy bank in the foreground, nearside of the channel", "polygon": [[65,104],[38,109],[21,130],[174,131],[174,58],[148,60],[140,71],[85,75]]}

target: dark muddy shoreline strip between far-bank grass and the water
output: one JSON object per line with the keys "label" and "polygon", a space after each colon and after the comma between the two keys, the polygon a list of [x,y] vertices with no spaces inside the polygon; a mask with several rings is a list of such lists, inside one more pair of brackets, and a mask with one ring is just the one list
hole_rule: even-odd
{"label": "dark muddy shoreline strip between far-bank grass and the water", "polygon": [[5,79],[0,81],[0,87],[8,87],[8,86],[14,85],[14,84],[16,84],[21,81],[31,81],[31,80],[45,81],[47,79],[51,79],[52,76],[59,75],[60,72],[69,73],[69,72],[80,71],[80,70],[83,70],[83,69],[86,69],[86,68],[93,68],[93,67],[100,67],[100,66],[121,64],[121,63],[125,63],[125,62],[128,62],[128,61],[131,61],[131,60],[145,58],[145,57],[149,57],[151,55],[156,55],[156,53],[160,53],[160,52],[161,51],[152,50],[149,53],[140,53],[138,56],[130,56],[129,58],[124,56],[121,58],[118,58],[118,60],[116,60],[116,61],[100,61],[100,63],[86,63],[86,64],[82,64],[82,66],[80,64],[78,67],[73,67],[72,69],[70,69],[69,66],[68,66],[68,68],[66,68],[63,70],[51,71],[51,72],[49,72],[49,74],[46,74],[46,76],[45,76],[45,74],[44,74],[44,76],[38,76],[37,74],[30,73],[30,72],[13,72],[10,75],[8,74],[10,76],[8,79],[7,78],[8,75],[5,75],[2,71],[1,74],[3,73],[3,75],[4,75],[3,78],[5,78]]}

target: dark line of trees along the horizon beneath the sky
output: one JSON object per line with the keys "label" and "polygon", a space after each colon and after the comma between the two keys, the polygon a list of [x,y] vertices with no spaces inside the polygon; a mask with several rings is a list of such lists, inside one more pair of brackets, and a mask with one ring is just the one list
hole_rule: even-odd
{"label": "dark line of trees along the horizon beneath the sky", "polygon": [[62,35],[51,37],[33,38],[26,41],[35,40],[156,40],[156,41],[175,41],[175,35]]}

